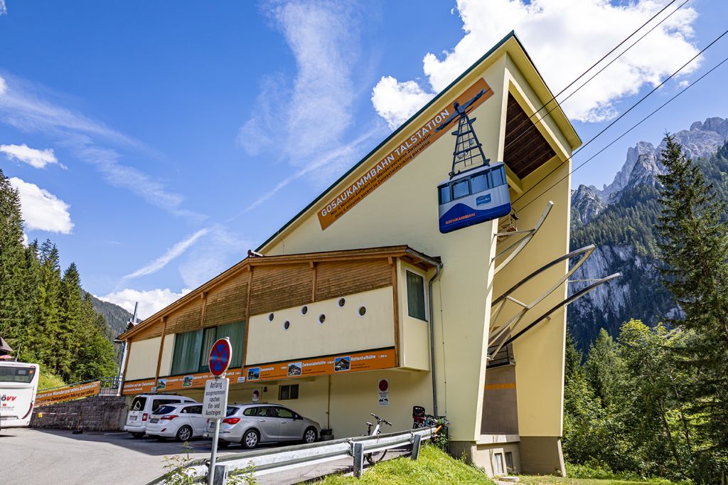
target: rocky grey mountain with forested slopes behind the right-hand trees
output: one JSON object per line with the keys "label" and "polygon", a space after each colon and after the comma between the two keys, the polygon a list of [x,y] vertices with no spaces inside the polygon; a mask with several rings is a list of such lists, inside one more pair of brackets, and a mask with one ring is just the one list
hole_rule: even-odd
{"label": "rocky grey mountain with forested slopes behind the right-hand trees", "polygon": [[[728,119],[708,118],[674,133],[687,156],[703,169],[721,197],[728,197]],[[621,272],[569,307],[569,330],[587,350],[599,328],[617,334],[622,322],[639,318],[649,325],[674,318],[679,311],[660,284],[657,234],[660,213],[657,175],[663,143],[641,141],[627,151],[612,184],[601,190],[579,186],[571,194],[571,248],[596,244],[597,249],[574,275],[587,280]],[[577,291],[588,283],[572,283]]]}

